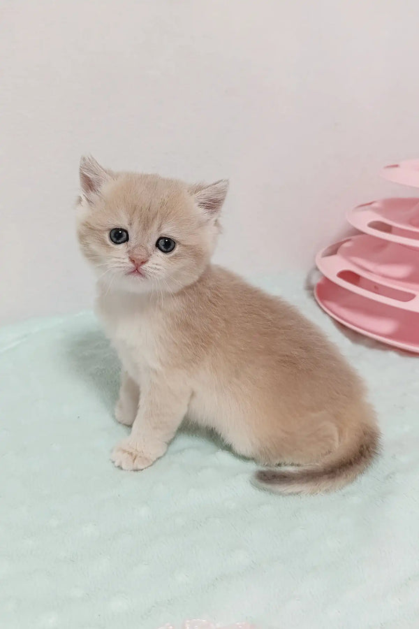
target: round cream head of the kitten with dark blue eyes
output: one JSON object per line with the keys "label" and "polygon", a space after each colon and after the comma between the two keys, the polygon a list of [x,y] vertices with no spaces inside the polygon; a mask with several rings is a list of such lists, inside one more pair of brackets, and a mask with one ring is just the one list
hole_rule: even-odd
{"label": "round cream head of the kitten with dark blue eyes", "polygon": [[78,239],[107,290],[170,291],[203,273],[219,233],[228,181],[186,185],[80,162]]}

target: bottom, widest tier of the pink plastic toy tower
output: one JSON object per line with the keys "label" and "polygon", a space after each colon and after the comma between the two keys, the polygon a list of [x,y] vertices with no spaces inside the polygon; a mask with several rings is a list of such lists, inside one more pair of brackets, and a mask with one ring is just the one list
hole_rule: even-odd
{"label": "bottom, widest tier of the pink plastic toy tower", "polygon": [[419,354],[419,314],[378,304],[323,277],[316,300],[330,317],[361,334]]}

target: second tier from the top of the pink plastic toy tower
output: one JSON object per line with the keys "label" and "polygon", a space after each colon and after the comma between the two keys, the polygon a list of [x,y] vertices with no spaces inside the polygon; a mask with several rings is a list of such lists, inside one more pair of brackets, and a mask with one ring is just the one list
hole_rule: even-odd
{"label": "second tier from the top of the pink plastic toy tower", "polygon": [[376,238],[419,249],[419,198],[384,198],[346,213],[356,229]]}

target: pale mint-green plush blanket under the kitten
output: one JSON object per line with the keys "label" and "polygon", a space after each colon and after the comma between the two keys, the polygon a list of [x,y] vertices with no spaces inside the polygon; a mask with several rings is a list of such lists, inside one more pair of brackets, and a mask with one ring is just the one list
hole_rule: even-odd
{"label": "pale mint-green plush blanket under the kitten", "polygon": [[2,629],[418,626],[419,357],[349,338],[300,277],[262,283],[367,379],[378,463],[339,493],[282,498],[251,485],[253,462],[183,432],[152,468],[122,472],[118,365],[94,316],[3,328]]}

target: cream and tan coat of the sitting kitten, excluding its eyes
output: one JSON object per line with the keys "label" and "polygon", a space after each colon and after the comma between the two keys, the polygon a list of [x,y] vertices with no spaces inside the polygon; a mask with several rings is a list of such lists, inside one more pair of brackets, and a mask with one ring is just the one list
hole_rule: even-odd
{"label": "cream and tan coat of the sitting kitten, excluding its eyes", "polygon": [[[280,493],[337,489],[365,470],[379,433],[358,376],[295,308],[210,263],[228,182],[114,173],[91,157],[80,181],[78,237],[123,367],[116,417],[132,426],[115,465],[152,465],[187,414],[239,454],[301,466],[258,472]],[[111,243],[118,227],[128,243]],[[173,252],[156,248],[161,236]],[[135,262],[142,276],[127,275]]]}

